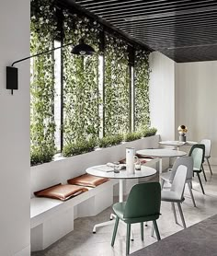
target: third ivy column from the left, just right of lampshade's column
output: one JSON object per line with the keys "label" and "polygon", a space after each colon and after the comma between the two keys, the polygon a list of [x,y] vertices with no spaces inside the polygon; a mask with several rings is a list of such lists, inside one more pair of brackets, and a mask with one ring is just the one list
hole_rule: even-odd
{"label": "third ivy column from the left, just right of lampshade's column", "polygon": [[106,34],[105,40],[105,135],[130,129],[130,80],[126,42]]}

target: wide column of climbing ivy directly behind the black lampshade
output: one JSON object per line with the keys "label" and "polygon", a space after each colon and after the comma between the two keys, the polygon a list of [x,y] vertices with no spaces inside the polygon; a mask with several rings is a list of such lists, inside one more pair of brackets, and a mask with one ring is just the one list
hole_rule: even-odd
{"label": "wide column of climbing ivy directly behind the black lampshade", "polygon": [[63,43],[91,45],[97,54],[72,55],[72,46],[63,50],[63,144],[97,138],[100,129],[98,106],[98,52],[99,29],[97,22],[87,17],[63,13]]}

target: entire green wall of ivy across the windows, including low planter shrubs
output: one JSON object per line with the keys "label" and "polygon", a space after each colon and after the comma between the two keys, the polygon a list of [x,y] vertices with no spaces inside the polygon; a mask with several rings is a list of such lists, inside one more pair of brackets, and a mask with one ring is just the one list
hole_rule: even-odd
{"label": "entire green wall of ivy across the windows, including low planter shrubs", "polygon": [[[54,47],[57,35],[55,0],[31,0],[31,55]],[[60,24],[59,24],[60,25]],[[117,145],[155,134],[150,127],[148,52],[135,52],[134,125],[130,132],[131,87],[127,42],[105,33],[100,41],[100,25],[87,17],[63,11],[63,156],[69,157],[94,150],[96,146]],[[60,31],[59,31],[60,32]],[[74,55],[73,46],[83,39],[96,54]],[[104,45],[100,52],[99,45]],[[104,54],[103,96],[100,95],[99,59]],[[54,122],[53,52],[31,59],[30,139],[31,164],[51,161],[56,152]],[[103,104],[103,127],[99,108]],[[101,129],[104,137],[99,137]],[[125,135],[124,135],[125,134]]]}

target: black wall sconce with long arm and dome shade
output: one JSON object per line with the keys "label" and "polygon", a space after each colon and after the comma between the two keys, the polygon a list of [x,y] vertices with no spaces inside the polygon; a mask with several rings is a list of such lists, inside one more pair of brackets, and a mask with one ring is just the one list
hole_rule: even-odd
{"label": "black wall sconce with long arm and dome shade", "polygon": [[[33,57],[37,57],[41,54],[53,52],[57,49],[61,49],[61,48],[64,48],[64,47],[72,45],[72,44],[73,43],[70,42],[70,43],[64,44],[62,46],[52,48],[51,50],[48,50],[46,52],[40,52],[35,55],[31,55],[29,57],[17,60],[13,64],[11,64],[11,66],[6,66],[6,89],[10,89],[12,95],[13,95],[13,90],[18,89],[18,69],[17,69],[17,67],[14,66],[14,64],[26,61]],[[95,50],[93,49],[93,47],[86,44],[83,40],[79,44],[75,45],[72,50],[72,53],[77,54],[77,55],[92,55],[94,52],[95,52]]]}

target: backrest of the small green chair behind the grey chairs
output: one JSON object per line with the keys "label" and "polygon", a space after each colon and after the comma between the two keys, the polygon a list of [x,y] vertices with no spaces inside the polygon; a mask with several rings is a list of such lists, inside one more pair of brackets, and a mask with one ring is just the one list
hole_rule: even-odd
{"label": "backrest of the small green chair behind the grey chairs", "polygon": [[201,164],[204,161],[205,145],[196,144],[192,145],[189,151],[189,157],[193,157],[194,167],[193,169],[201,169]]}

